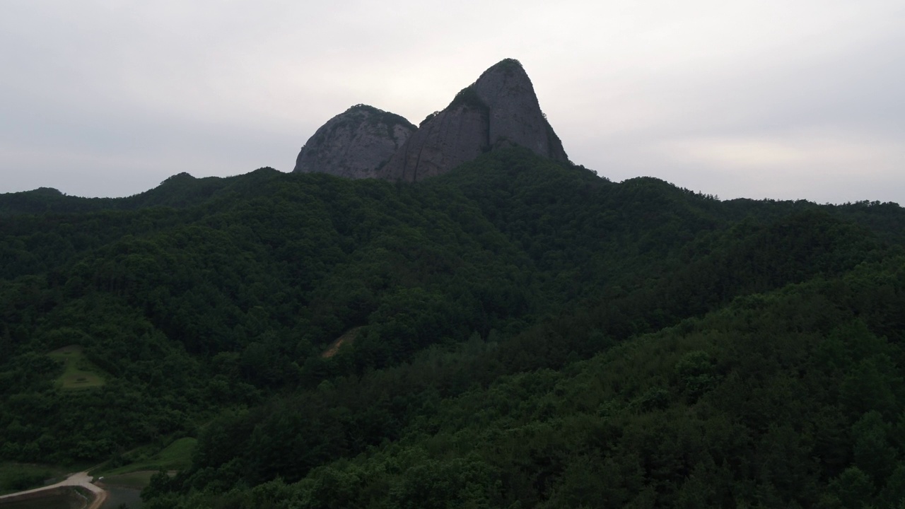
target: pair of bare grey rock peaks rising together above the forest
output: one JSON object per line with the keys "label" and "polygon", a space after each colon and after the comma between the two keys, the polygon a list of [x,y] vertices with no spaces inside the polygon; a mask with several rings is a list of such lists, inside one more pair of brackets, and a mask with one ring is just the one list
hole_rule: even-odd
{"label": "pair of bare grey rock peaks rising together above the forest", "polygon": [[305,143],[293,171],[415,182],[513,145],[568,161],[528,74],[519,61],[508,58],[484,71],[419,127],[365,104],[349,108]]}

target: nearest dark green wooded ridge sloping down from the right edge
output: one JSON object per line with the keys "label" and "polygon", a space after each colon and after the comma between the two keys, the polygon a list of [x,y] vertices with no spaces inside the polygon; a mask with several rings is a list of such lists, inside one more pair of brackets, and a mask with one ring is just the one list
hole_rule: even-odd
{"label": "nearest dark green wooded ridge sloping down from the right edge", "polygon": [[[457,378],[450,367],[474,370],[501,345],[473,339],[337,379],[215,421],[192,470],[156,477],[149,506],[898,507],[903,262],[741,297],[558,370],[472,380],[457,396],[440,394]],[[564,322],[600,333],[586,316]],[[394,383],[404,371],[407,383]],[[408,405],[418,417],[326,460],[348,447],[337,423],[364,417],[355,400],[380,387],[395,393],[364,405],[368,415]],[[312,436],[330,440],[299,447]],[[320,465],[300,476],[304,462]]]}

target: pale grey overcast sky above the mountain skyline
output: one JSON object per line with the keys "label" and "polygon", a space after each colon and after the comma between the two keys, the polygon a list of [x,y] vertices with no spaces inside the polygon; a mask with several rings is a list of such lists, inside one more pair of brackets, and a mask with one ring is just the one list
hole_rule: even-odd
{"label": "pale grey overcast sky above the mountain skyline", "polygon": [[290,171],[519,59],[569,157],[720,198],[905,205],[902,0],[2,0],[0,193]]}

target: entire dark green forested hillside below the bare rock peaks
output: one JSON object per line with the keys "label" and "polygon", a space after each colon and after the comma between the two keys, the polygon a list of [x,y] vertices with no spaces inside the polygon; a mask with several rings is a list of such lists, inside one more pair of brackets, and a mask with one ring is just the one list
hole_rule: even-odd
{"label": "entire dark green forested hillside below the bare rock peaks", "polygon": [[0,214],[0,457],[197,437],[151,507],[905,496],[895,204],[504,149],[417,184],[262,168]]}

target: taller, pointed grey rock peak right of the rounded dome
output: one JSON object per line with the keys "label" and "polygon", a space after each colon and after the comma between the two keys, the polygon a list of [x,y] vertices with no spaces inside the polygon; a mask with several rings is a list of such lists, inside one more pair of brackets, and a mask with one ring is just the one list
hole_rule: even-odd
{"label": "taller, pointed grey rock peak right of the rounded dome", "polygon": [[456,94],[443,111],[425,119],[377,176],[418,181],[445,173],[482,152],[511,145],[568,160],[540,110],[528,74],[519,61],[506,59]]}

